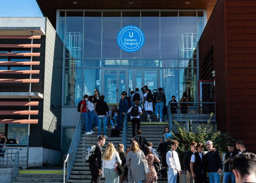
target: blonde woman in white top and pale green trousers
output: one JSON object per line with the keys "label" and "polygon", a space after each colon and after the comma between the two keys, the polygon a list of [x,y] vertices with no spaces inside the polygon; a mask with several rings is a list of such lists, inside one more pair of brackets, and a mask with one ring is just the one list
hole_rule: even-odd
{"label": "blonde woman in white top and pale green trousers", "polygon": [[119,183],[118,172],[114,170],[116,161],[122,164],[114,145],[109,142],[102,157],[102,177],[106,183]]}

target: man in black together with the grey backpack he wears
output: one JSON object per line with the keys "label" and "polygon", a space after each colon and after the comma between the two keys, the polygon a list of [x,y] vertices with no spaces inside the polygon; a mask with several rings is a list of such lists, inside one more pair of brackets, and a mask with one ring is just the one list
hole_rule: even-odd
{"label": "man in black together with the grey backpack he wears", "polygon": [[[98,143],[91,145],[86,151],[85,160],[89,162],[89,169],[92,175],[91,183],[99,183],[102,174],[101,155],[102,146],[105,144],[106,138],[103,135],[98,137]],[[94,151],[93,151],[94,150]]]}

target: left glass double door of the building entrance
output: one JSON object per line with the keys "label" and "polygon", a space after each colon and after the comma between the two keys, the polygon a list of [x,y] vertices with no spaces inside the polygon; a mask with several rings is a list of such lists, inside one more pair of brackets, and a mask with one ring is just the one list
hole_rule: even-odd
{"label": "left glass double door of the building entrance", "polygon": [[127,89],[127,70],[103,69],[102,76],[105,102],[119,103],[121,92]]}

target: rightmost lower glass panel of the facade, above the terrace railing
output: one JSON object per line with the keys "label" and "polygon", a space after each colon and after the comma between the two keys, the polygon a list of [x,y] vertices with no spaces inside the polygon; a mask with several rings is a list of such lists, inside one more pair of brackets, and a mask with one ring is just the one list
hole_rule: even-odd
{"label": "rightmost lower glass panel of the facade, above the terrace railing", "polygon": [[180,98],[185,92],[188,95],[189,102],[197,102],[197,70],[196,69],[180,69]]}

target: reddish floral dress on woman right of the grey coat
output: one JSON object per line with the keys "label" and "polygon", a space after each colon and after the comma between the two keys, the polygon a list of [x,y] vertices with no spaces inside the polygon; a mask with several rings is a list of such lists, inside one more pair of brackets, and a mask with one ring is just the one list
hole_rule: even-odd
{"label": "reddish floral dress on woman right of the grey coat", "polygon": [[146,174],[144,183],[153,183],[154,181],[157,181],[157,172],[154,168],[154,161],[160,163],[160,160],[153,154],[148,154],[146,160],[148,162],[149,174]]}

